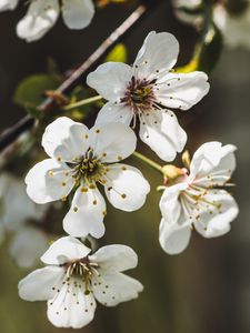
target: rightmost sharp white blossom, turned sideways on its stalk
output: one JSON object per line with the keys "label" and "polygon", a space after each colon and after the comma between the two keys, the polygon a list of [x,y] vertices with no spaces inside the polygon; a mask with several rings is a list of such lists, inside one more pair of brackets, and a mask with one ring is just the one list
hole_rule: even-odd
{"label": "rightmost sharp white blossom, turned sideways on its stalk", "polygon": [[236,168],[234,150],[231,144],[204,143],[194,153],[189,173],[176,168],[176,179],[167,179],[160,201],[160,244],[167,253],[182,252],[193,228],[204,238],[220,236],[230,230],[238,205],[222,188]]}

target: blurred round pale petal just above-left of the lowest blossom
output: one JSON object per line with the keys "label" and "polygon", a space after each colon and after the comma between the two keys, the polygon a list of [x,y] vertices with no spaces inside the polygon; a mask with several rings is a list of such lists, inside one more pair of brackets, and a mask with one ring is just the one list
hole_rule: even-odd
{"label": "blurred round pale petal just above-left of the lowest blossom", "polygon": [[41,230],[26,226],[18,231],[11,240],[10,255],[20,268],[28,269],[38,263],[48,248],[49,240]]}

